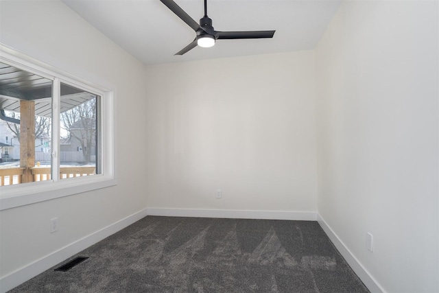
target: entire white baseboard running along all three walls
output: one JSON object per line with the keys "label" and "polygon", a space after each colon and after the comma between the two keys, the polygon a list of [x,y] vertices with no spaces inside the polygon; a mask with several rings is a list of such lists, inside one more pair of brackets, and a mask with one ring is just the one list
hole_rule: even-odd
{"label": "entire white baseboard running along all three walls", "polygon": [[353,268],[357,276],[363,281],[370,292],[385,293],[385,290],[361,265],[358,259],[344,245],[340,238],[334,233],[331,227],[315,211],[240,211],[240,210],[216,210],[216,209],[161,209],[147,208],[134,213],[114,224],[106,226],[91,235],[87,235],[72,244],[54,251],[50,255],[38,259],[29,265],[12,272],[0,279],[0,292],[7,292],[12,288],[36,277],[38,274],[56,266],[56,264],[79,253],[89,246],[101,241],[102,239],[116,233],[117,231],[141,220],[146,215],[163,215],[173,217],[197,217],[197,218],[241,218],[241,219],[264,219],[264,220],[303,220],[318,221],[323,231],[327,233],[337,250],[342,254],[349,266]]}

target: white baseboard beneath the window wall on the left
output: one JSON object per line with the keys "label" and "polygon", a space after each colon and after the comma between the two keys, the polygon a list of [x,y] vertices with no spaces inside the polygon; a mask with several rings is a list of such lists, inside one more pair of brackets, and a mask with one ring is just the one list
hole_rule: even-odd
{"label": "white baseboard beneath the window wall on the left", "polygon": [[24,283],[25,281],[36,277],[38,274],[48,270],[49,268],[56,266],[61,261],[68,259],[69,257],[79,253],[80,251],[92,246],[93,244],[101,241],[102,239],[116,233],[117,231],[130,226],[134,222],[141,220],[147,215],[146,209],[143,209],[137,213],[133,213],[122,220],[110,224],[105,228],[102,228],[95,233],[87,235],[78,241],[75,241],[59,250],[54,251],[50,255],[47,255],[29,265],[12,272],[0,279],[0,292],[7,292],[12,288]]}

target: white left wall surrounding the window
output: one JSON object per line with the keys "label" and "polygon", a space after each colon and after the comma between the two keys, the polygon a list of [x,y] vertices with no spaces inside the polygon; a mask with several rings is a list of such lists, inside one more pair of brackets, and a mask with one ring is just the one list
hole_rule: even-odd
{"label": "white left wall surrounding the window", "polygon": [[[115,90],[115,187],[3,210],[0,277],[145,209],[145,67],[58,1],[1,1],[0,42]],[[139,154],[139,156],[127,155]],[[141,158],[141,163],[139,163]],[[49,233],[49,220],[59,228]]]}

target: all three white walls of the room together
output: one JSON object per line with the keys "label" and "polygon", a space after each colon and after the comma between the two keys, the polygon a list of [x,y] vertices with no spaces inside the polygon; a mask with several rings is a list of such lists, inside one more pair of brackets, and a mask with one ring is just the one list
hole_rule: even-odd
{"label": "all three white walls of the room together", "polygon": [[145,207],[318,209],[385,290],[439,291],[437,1],[344,2],[316,52],[146,71],[58,1],[1,1],[0,27],[115,89],[119,159],[116,187],[1,211],[0,277]]}

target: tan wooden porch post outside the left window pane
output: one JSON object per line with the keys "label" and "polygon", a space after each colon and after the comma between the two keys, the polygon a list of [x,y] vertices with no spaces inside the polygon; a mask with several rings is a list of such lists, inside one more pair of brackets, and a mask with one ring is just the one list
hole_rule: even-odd
{"label": "tan wooden porch post outside the left window pane", "polygon": [[35,102],[20,101],[20,167],[24,167],[22,182],[32,182],[30,168],[35,167]]}

